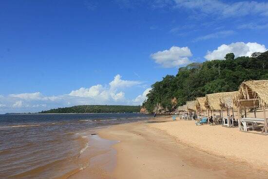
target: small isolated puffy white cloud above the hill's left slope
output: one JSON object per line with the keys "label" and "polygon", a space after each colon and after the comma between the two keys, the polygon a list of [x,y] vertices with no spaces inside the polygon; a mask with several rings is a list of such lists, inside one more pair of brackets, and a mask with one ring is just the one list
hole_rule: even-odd
{"label": "small isolated puffy white cloud above the hill's left slope", "polygon": [[172,46],[169,50],[158,51],[151,54],[151,58],[165,68],[189,64],[191,60],[189,60],[188,57],[191,56],[190,48],[177,46]]}

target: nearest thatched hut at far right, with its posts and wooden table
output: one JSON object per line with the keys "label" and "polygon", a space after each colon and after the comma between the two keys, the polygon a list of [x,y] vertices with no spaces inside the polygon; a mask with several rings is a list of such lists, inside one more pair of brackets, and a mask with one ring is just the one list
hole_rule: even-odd
{"label": "nearest thatched hut at far right, with its posts and wooden table", "polygon": [[[241,109],[253,108],[254,118],[241,118],[238,119],[238,127],[240,131],[248,131],[249,129],[255,130],[262,124],[262,133],[268,134],[268,119],[266,118],[266,111],[268,108],[268,80],[249,80],[241,83],[237,95],[233,99],[234,104],[237,106],[241,114]],[[263,116],[256,117],[256,108],[262,108]],[[251,126],[250,126],[251,124]]]}

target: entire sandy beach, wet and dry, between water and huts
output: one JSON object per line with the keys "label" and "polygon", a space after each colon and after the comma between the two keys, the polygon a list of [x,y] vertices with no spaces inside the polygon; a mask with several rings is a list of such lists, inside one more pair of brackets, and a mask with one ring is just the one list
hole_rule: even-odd
{"label": "entire sandy beach, wet and dry, between water and huts", "polygon": [[98,133],[117,141],[111,145],[116,154],[100,159],[96,171],[83,170],[72,179],[95,179],[90,173],[98,173],[98,179],[268,178],[267,137],[237,128],[195,126],[194,121],[168,117],[119,124]]}

